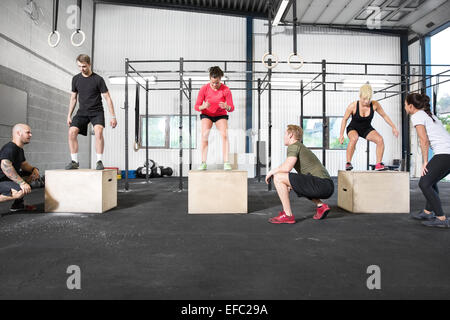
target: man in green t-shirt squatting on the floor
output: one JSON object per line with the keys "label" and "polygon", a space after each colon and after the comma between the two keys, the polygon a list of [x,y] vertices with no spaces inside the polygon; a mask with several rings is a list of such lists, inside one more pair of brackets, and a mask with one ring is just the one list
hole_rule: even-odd
{"label": "man in green t-shirt squatting on the floor", "polygon": [[[271,223],[295,223],[289,201],[291,189],[299,197],[306,197],[317,205],[315,220],[325,219],[330,212],[330,207],[320,199],[328,199],[333,195],[333,180],[316,155],[300,142],[302,137],[302,128],[288,125],[284,135],[284,144],[288,146],[286,161],[267,173],[266,183],[269,183],[273,177],[275,188],[283,205],[283,211],[277,217],[269,219]],[[291,172],[294,168],[297,173]]]}

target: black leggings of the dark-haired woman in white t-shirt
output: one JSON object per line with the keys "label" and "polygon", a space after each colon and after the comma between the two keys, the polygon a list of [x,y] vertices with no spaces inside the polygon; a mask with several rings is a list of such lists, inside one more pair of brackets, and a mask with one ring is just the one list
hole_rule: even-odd
{"label": "black leggings of the dark-haired woman in white t-shirt", "polygon": [[427,164],[428,172],[419,180],[427,204],[425,209],[433,211],[436,216],[444,216],[437,183],[450,174],[450,154],[437,154]]}

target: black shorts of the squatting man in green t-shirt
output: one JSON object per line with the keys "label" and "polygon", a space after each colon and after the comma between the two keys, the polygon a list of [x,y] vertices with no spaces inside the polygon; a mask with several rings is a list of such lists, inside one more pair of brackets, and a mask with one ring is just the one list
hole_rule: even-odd
{"label": "black shorts of the squatting man in green t-shirt", "polygon": [[334,193],[331,179],[315,177],[311,174],[289,173],[289,182],[297,196],[311,199],[328,199]]}

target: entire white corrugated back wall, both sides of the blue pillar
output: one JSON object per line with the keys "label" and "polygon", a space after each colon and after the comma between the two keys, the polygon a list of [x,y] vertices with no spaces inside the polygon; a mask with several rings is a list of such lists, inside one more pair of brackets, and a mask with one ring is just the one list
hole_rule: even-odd
{"label": "entire white corrugated back wall, both sides of the blue pillar", "polygon": [[[369,63],[399,63],[400,43],[398,37],[372,35],[336,31],[332,29],[300,28],[298,34],[298,52],[305,61],[329,62],[369,62]],[[286,60],[292,52],[292,32],[289,28],[277,27],[273,30],[273,52],[281,60]],[[267,25],[263,20],[254,23],[254,59],[259,60],[267,51]],[[226,59],[245,60],[246,56],[246,21],[244,18],[208,15],[182,11],[168,11],[151,8],[126,7],[99,4],[96,10],[95,26],[95,70],[105,78],[109,75],[123,75],[125,58],[129,59]],[[149,65],[140,66],[144,69]],[[207,70],[209,64],[187,64],[186,69]],[[178,64],[160,65],[158,68],[178,70]],[[243,70],[244,65],[229,64],[230,70]],[[256,70],[264,70],[262,65],[256,65]],[[301,70],[320,72],[320,66],[305,65]],[[287,65],[279,65],[275,71],[290,71]],[[330,72],[363,71],[362,67],[330,66]],[[377,67],[369,72],[399,73],[397,67]],[[161,75],[162,76],[162,75]],[[233,75],[233,79],[238,78]],[[257,77],[255,76],[255,79]],[[307,76],[311,78],[311,76]],[[244,79],[242,76],[241,79]],[[320,78],[319,78],[320,79]],[[343,77],[329,76],[329,80],[343,80]],[[383,78],[390,82],[399,82],[399,78]],[[233,83],[231,87],[243,87],[243,84]],[[124,111],[119,107],[124,105],[123,86],[110,85],[111,95],[115,102],[119,127],[107,129],[105,133],[106,151],[105,164],[124,168]],[[195,100],[197,92],[193,92]],[[235,113],[231,114],[230,142],[231,152],[245,153],[245,91],[233,91],[236,105]],[[342,116],[348,104],[358,98],[357,93],[327,93],[327,115]],[[375,99],[381,98],[375,95]],[[144,91],[141,91],[141,113],[143,113]],[[187,114],[187,101],[184,99],[184,113]],[[253,95],[253,128],[257,128],[257,94]],[[130,90],[130,168],[135,169],[145,161],[145,151],[132,151],[134,141],[134,88]],[[381,102],[393,122],[400,128],[401,101],[400,97],[389,98]],[[150,91],[150,114],[178,114],[179,92]],[[322,96],[313,92],[305,97],[305,116],[321,115]],[[286,149],[282,138],[287,124],[299,123],[300,93],[276,92],[272,94],[272,166],[279,165],[285,158]],[[107,116],[109,119],[109,116]],[[186,125],[186,124],[185,124]],[[267,141],[267,93],[262,96],[262,140]],[[393,159],[401,158],[401,138],[394,138],[390,127],[378,115],[375,116],[374,127],[385,139],[386,164]],[[197,127],[199,142],[200,128]],[[253,142],[255,142],[253,137]],[[366,168],[366,141],[360,139],[353,163],[356,169]],[[108,148],[113,145],[113,148]],[[370,162],[375,162],[375,145],[370,147]],[[252,150],[255,150],[253,147]],[[171,166],[178,174],[178,150],[150,149],[150,158],[160,165]],[[93,152],[95,154],[95,152]],[[187,163],[188,152],[184,152],[184,163]],[[319,152],[318,152],[319,155]],[[193,151],[194,166],[199,163],[199,148]],[[319,155],[320,156],[320,155]],[[241,158],[242,159],[242,158]],[[95,159],[93,159],[94,161]],[[213,130],[210,137],[209,164],[221,163],[221,139]],[[327,168],[332,175],[345,165],[345,150],[327,151]],[[187,169],[187,166],[185,167]],[[184,172],[187,172],[185,170]]]}

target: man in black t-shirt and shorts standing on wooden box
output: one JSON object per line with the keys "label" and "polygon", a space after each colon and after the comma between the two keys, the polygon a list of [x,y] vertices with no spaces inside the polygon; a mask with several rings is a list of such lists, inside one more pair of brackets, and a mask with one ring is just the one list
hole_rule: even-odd
{"label": "man in black t-shirt and shorts standing on wooden box", "polygon": [[[95,132],[95,150],[97,153],[97,170],[103,170],[103,150],[105,142],[103,129],[105,128],[105,113],[103,111],[102,96],[105,98],[111,114],[111,127],[117,126],[114,105],[106,87],[105,80],[91,69],[91,58],[86,54],[77,57],[80,73],[72,78],[72,95],[70,97],[67,125],[69,126],[69,148],[72,161],[66,166],[67,170],[78,169],[78,134],[87,136],[89,122]],[[72,119],[72,113],[79,101],[79,109]]]}

